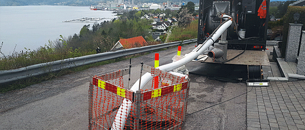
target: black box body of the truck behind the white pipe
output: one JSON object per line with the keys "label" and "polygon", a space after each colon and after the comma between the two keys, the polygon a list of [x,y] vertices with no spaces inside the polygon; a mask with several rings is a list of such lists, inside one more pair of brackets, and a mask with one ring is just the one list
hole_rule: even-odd
{"label": "black box body of the truck behind the white pipe", "polygon": [[[200,0],[198,45],[202,44],[217,26],[224,21],[216,17],[218,12],[222,12],[231,15],[237,25],[232,24],[228,28],[226,38],[228,49],[244,50],[246,47],[246,50],[265,50],[270,0],[266,0],[266,18],[258,16],[258,10],[262,2],[263,0]],[[257,38],[239,40],[237,33],[240,30],[242,30],[241,32],[245,30],[244,38]]]}

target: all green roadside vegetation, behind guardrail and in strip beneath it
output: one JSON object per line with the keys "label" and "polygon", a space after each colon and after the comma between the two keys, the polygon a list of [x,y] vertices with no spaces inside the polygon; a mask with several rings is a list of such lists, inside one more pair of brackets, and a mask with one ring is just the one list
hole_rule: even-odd
{"label": "all green roadside vegetation, behind guardrail and in strip beneath it", "polygon": [[[184,13],[188,13],[185,8]],[[179,10],[179,12],[183,12]],[[51,62],[56,60],[62,60],[66,58],[79,57],[84,55],[95,54],[96,48],[100,48],[100,52],[108,52],[115,45],[115,43],[122,38],[131,38],[136,36],[143,36],[148,42],[147,45],[159,44],[153,40],[151,35],[151,23],[152,20],[141,19],[145,14],[150,13],[164,13],[170,17],[188,17],[187,15],[177,14],[177,11],[166,10],[139,10],[124,12],[118,19],[112,21],[104,21],[100,24],[85,25],[81,28],[79,34],[73,36],[64,37],[60,35],[60,38],[49,41],[44,47],[40,47],[37,50],[26,49],[21,52],[13,52],[10,55],[5,55],[1,52],[2,45],[0,44],[0,71],[18,69],[34,64]],[[182,41],[187,39],[193,39],[197,37],[197,24],[198,21],[193,19],[187,19],[183,24],[174,26],[172,28],[172,34],[170,35],[169,42]],[[166,39],[167,35],[162,36]],[[158,50],[160,51],[160,50]],[[52,78],[58,78],[62,75],[70,74],[86,70],[93,66],[109,64],[112,62],[118,62],[124,59],[128,59],[134,56],[140,56],[146,53],[135,54],[131,56],[125,56],[117,59],[98,62],[90,65],[84,65],[80,67],[74,67],[70,69],[64,69],[59,72],[48,73],[44,76],[31,77],[18,81],[14,81],[8,84],[2,84],[0,87],[0,93],[5,93],[11,90],[24,88],[26,86],[36,84]]]}

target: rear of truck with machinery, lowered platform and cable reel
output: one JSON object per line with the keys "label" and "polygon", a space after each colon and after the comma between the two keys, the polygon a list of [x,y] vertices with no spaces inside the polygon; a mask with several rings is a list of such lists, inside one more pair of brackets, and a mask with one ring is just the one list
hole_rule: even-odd
{"label": "rear of truck with machinery, lowered platform and cable reel", "polygon": [[233,24],[213,41],[206,63],[247,65],[247,85],[268,85],[262,66],[270,66],[266,50],[269,0],[200,0],[197,45],[204,44],[224,22]]}

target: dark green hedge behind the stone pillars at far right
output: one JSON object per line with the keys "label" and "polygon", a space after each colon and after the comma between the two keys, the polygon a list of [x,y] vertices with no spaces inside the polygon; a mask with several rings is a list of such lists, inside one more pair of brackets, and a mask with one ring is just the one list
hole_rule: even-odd
{"label": "dark green hedge behind the stone pillars at far right", "polygon": [[[293,15],[295,13],[300,14],[300,19],[298,24],[302,24],[302,30],[305,30],[305,6],[288,6],[287,13],[284,15],[283,19],[283,42],[279,44],[281,48],[281,55],[285,56],[286,53],[286,44],[288,39],[288,29],[289,23],[294,23]],[[301,32],[300,32],[301,33]]]}

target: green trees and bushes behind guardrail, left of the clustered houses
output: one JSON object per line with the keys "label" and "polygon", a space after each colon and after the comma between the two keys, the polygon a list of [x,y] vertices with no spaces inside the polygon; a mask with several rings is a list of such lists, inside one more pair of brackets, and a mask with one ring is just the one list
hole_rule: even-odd
{"label": "green trees and bushes behind guardrail, left of the clustered houses", "polygon": [[62,60],[66,58],[79,57],[96,53],[95,49],[100,48],[101,52],[110,51],[120,38],[143,36],[149,44],[156,44],[149,37],[150,21],[134,20],[113,20],[101,24],[85,25],[79,34],[64,38],[60,36],[55,41],[49,41],[48,45],[38,50],[26,49],[22,52],[13,52],[11,55],[2,54],[0,58],[0,70],[18,69],[34,64]]}

